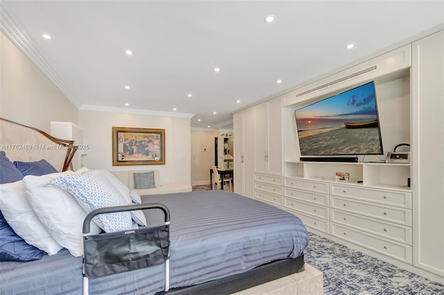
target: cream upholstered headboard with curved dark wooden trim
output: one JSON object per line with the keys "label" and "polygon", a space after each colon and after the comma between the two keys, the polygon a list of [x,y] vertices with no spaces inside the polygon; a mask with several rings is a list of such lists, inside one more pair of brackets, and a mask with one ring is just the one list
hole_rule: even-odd
{"label": "cream upholstered headboard with curved dark wooden trim", "polygon": [[74,140],[60,140],[37,128],[0,118],[0,151],[13,161],[48,161],[66,171],[76,153]]}

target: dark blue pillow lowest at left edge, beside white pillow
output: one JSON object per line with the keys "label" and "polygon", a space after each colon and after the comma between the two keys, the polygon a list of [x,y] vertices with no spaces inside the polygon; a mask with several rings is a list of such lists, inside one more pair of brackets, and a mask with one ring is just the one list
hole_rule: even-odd
{"label": "dark blue pillow lowest at left edge, beside white pillow", "polygon": [[42,258],[43,251],[27,244],[6,222],[0,212],[0,261],[31,261]]}

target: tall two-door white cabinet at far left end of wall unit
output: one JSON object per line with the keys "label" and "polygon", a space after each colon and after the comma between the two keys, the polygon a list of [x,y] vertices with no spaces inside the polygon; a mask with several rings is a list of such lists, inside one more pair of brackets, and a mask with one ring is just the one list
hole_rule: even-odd
{"label": "tall two-door white cabinet at far left end of wall unit", "polygon": [[253,109],[233,116],[234,192],[253,198]]}

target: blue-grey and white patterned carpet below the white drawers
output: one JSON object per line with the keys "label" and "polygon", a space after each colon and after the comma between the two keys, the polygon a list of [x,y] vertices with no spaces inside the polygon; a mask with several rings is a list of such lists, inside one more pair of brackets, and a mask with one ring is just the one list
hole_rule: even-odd
{"label": "blue-grey and white patterned carpet below the white drawers", "polygon": [[444,286],[310,233],[305,261],[324,274],[324,294],[438,295]]}

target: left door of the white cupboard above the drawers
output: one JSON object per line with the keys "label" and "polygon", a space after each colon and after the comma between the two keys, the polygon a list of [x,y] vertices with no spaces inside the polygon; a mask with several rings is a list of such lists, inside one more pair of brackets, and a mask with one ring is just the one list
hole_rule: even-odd
{"label": "left door of the white cupboard above the drawers", "polygon": [[266,173],[266,103],[254,107],[255,116],[255,172]]}

